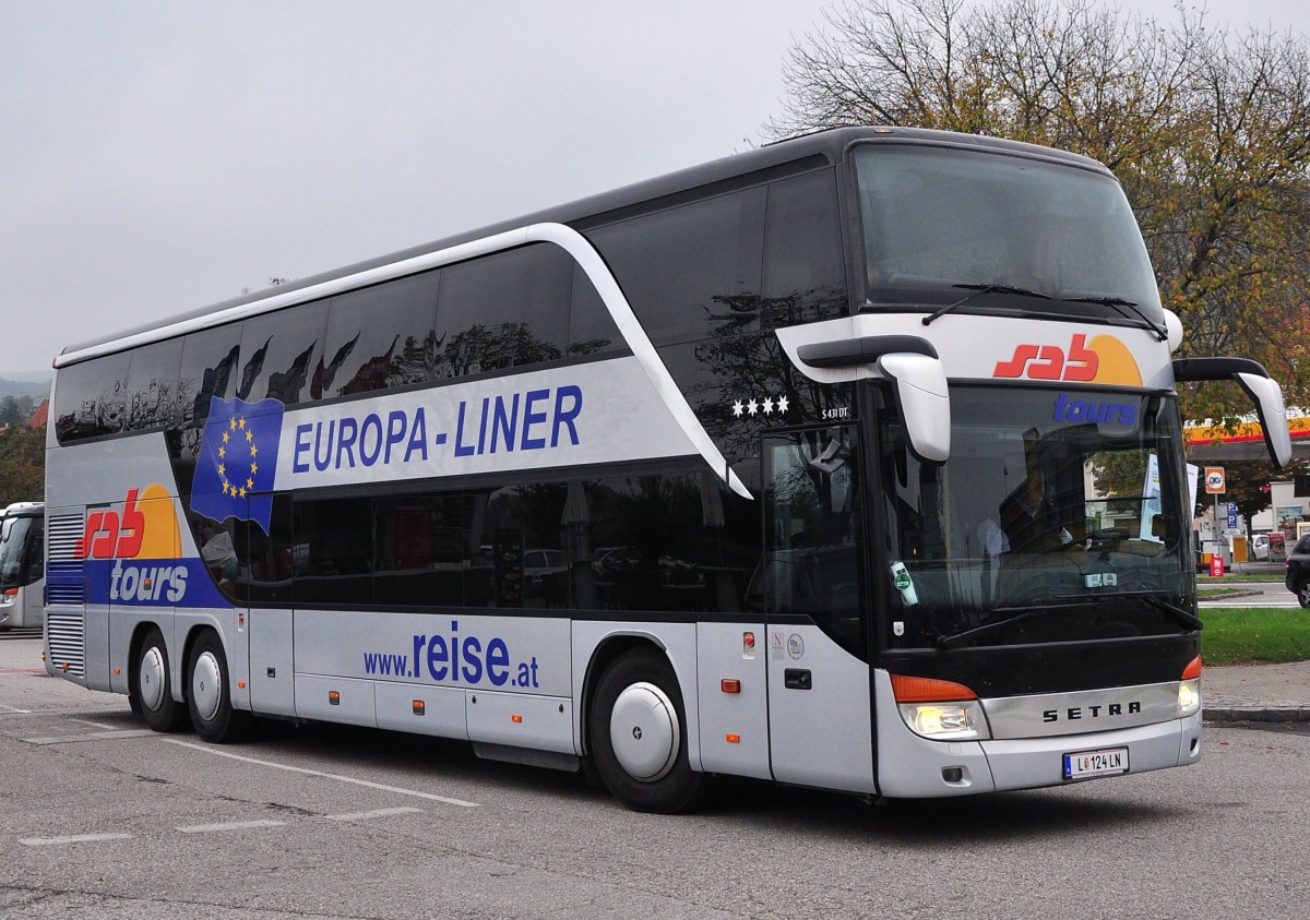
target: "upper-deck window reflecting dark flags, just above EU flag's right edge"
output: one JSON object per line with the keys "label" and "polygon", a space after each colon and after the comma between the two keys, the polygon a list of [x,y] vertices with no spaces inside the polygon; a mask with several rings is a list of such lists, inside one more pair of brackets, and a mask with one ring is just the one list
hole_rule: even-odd
{"label": "upper-deck window reflecting dark flags, just above EU flag's right edge", "polygon": [[326,301],[301,304],[245,321],[236,397],[246,402],[309,400],[309,377],[322,356]]}

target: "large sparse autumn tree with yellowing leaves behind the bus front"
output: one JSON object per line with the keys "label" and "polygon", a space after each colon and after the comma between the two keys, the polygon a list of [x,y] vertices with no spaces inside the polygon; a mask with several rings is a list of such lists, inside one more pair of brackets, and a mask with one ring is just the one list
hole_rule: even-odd
{"label": "large sparse autumn tree with yellowing leaves behind the bus front", "polygon": [[[1005,136],[1095,157],[1124,185],[1182,355],[1244,354],[1310,393],[1310,55],[1179,4],[1162,24],[1091,0],[848,0],[783,68],[785,136],[882,123]],[[1231,388],[1192,418],[1233,419]]]}

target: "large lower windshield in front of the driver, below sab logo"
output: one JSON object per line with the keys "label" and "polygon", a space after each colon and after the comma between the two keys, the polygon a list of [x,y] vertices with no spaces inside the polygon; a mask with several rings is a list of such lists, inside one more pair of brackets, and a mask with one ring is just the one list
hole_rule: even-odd
{"label": "large lower windshield in front of the driver, below sab logo", "polygon": [[892,647],[1199,628],[1171,397],[952,387],[951,415],[942,465],[880,423]]}

